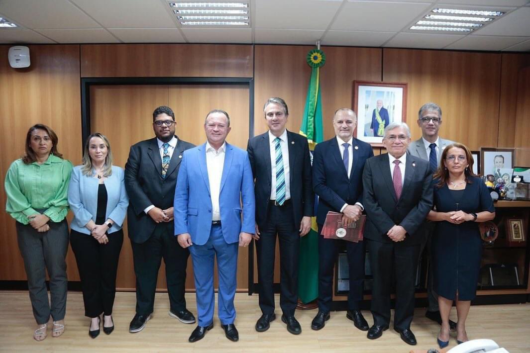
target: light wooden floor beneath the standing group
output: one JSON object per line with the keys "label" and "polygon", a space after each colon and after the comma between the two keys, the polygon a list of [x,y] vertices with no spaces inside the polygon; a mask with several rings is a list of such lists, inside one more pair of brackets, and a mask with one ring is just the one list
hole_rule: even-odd
{"label": "light wooden floor beneath the standing group", "polygon": [[[196,313],[195,294],[186,294],[188,309]],[[278,308],[278,299],[277,308]],[[27,292],[0,292],[0,351],[98,351],[98,352],[408,352],[412,348],[401,341],[399,334],[392,329],[383,336],[371,341],[366,332],[357,330],[346,319],[345,312],[332,312],[331,320],[321,331],[310,328],[316,314],[312,311],[297,311],[296,318],[302,324],[302,334],[294,336],[287,332],[280,320],[271,323],[267,332],[258,333],[254,324],[260,316],[258,296],[244,293],[236,294],[236,327],[240,333],[239,342],[228,341],[220,328],[217,316],[214,328],[199,342],[189,343],[188,337],[195,324],[183,324],[167,315],[169,302],[167,294],[157,293],[153,318],[139,333],[128,332],[129,322],[135,309],[134,293],[118,293],[114,304],[114,324],[116,329],[110,336],[101,332],[96,339],[87,333],[89,319],[84,316],[81,293],[68,293],[66,310],[66,331],[59,338],[48,337],[42,342],[32,338],[35,321]],[[454,309],[453,309],[454,311]],[[418,346],[415,349],[436,347],[436,335],[439,326],[423,316],[425,309],[417,309],[412,322],[412,331],[416,334]],[[368,323],[372,315],[364,312]],[[455,314],[452,313],[452,319]],[[51,324],[50,324],[51,326]],[[392,327],[392,323],[391,323]],[[470,339],[490,338],[511,353],[530,352],[530,304],[482,305],[472,306],[467,320],[467,334]],[[456,345],[454,335],[451,347]]]}

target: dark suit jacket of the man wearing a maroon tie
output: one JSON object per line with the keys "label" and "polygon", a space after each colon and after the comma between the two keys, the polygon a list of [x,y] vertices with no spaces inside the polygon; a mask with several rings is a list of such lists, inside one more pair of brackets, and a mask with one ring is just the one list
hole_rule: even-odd
{"label": "dark suit jacket of the man wearing a maroon tie", "polygon": [[363,173],[364,206],[367,214],[364,236],[379,242],[393,242],[386,233],[401,225],[408,233],[396,245],[420,244],[427,213],[432,208],[432,175],[429,162],[407,153],[401,197],[396,200],[388,153],[366,161]]}

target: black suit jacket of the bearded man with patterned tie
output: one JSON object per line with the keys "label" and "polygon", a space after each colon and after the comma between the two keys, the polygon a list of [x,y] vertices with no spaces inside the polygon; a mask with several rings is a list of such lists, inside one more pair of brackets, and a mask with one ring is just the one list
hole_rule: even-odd
{"label": "black suit jacket of the bearded man with patterned tie", "polygon": [[[143,243],[155,229],[156,223],[144,212],[145,207],[155,205],[165,210],[173,206],[182,152],[193,147],[195,145],[178,139],[166,177],[162,179],[162,158],[156,138],[131,146],[125,165],[125,188],[129,195],[127,224],[131,241]],[[167,222],[167,231],[173,234],[173,229],[173,221]]]}

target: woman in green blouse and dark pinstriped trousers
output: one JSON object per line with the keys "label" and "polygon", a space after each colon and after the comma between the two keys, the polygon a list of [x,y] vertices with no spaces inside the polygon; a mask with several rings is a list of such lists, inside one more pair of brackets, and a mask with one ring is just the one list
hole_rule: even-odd
{"label": "woman in green blouse and dark pinstriped trousers", "polygon": [[[48,126],[33,125],[26,136],[25,155],[15,160],[5,178],[6,211],[16,220],[19,249],[24,259],[33,316],[33,338],[64,332],[66,309],[66,252],[68,250],[68,183],[72,163],[57,151],[57,135]],[[46,289],[50,276],[51,303]]]}

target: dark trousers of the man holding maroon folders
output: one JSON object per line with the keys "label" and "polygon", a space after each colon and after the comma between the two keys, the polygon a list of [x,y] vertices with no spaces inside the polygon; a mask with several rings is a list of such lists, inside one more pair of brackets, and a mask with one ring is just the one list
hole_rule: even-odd
{"label": "dark trousers of the man holding maroon folders", "polygon": [[359,310],[359,302],[363,300],[363,281],[365,277],[364,241],[358,243],[324,239],[321,234],[323,224],[319,224],[319,311],[329,312],[333,297],[333,268],[337,262],[339,247],[346,244],[348,258],[350,291],[348,292],[348,310]]}

